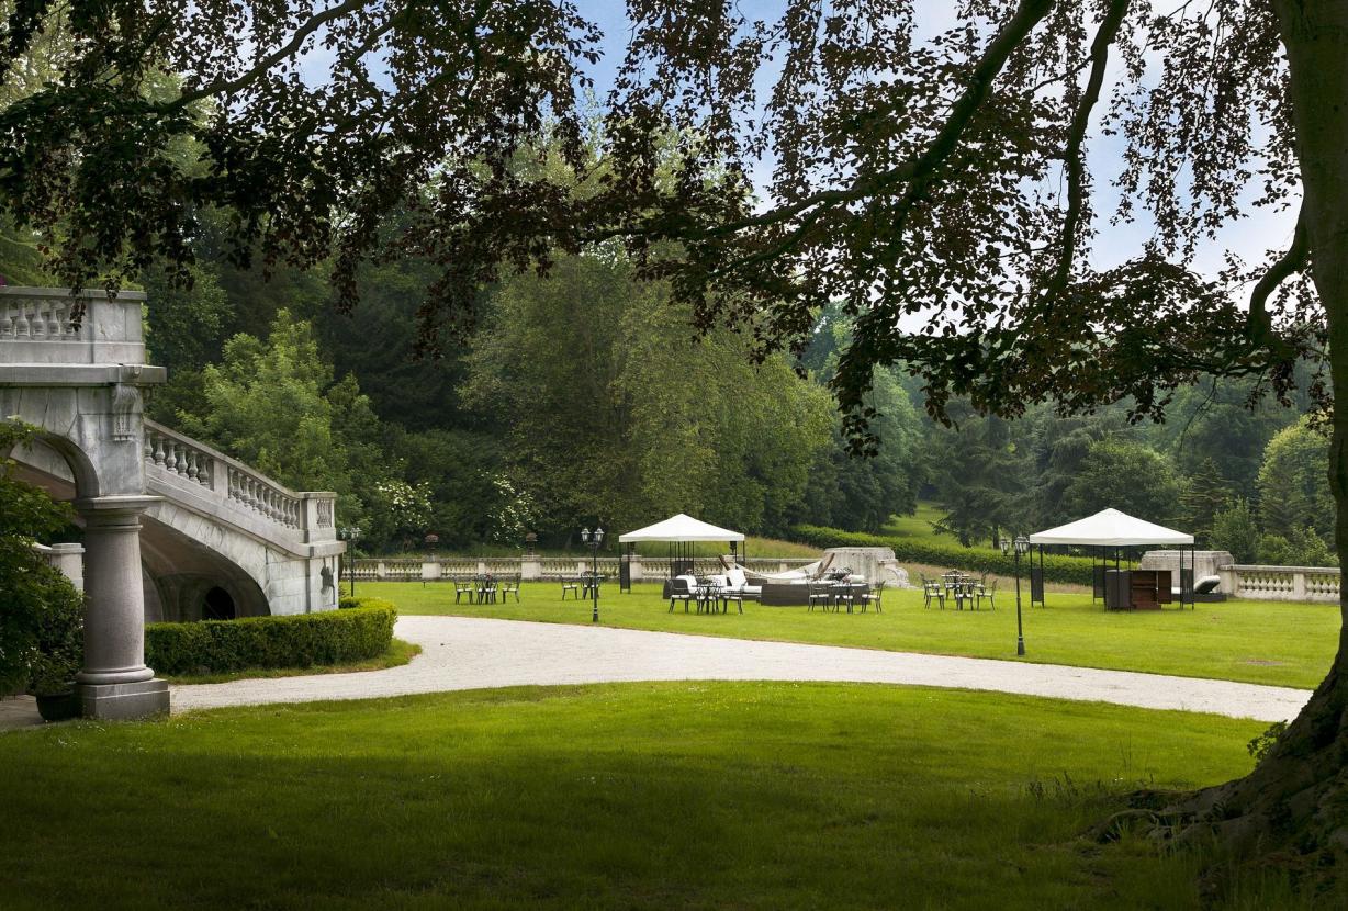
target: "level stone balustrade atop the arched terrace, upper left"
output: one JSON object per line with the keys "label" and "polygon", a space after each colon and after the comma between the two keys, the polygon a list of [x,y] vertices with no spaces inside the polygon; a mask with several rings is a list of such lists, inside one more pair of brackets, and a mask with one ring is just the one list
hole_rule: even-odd
{"label": "level stone balustrade atop the arched terrace, upper left", "polygon": [[142,291],[0,287],[0,364],[144,364]]}

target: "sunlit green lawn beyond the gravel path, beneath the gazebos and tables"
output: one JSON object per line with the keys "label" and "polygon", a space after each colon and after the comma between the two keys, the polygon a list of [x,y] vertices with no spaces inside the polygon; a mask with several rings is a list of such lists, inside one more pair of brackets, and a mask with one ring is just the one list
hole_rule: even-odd
{"label": "sunlit green lawn beyond the gravel path, beneath the gazebos and tables", "polygon": [[[453,586],[361,582],[360,594],[391,600],[403,613],[457,613],[510,620],[589,623],[590,605],[561,600],[561,586],[524,584],[520,604],[454,604]],[[615,627],[743,639],[856,646],[938,655],[1015,659],[1015,592],[999,609],[922,608],[917,590],[884,593],[882,615],[807,613],[745,602],[744,615],[667,613],[658,585],[631,594],[605,588],[600,619]],[[949,602],[948,602],[949,604]],[[1228,601],[1194,610],[1105,612],[1089,594],[1049,593],[1049,606],[1024,609],[1026,659],[1182,677],[1211,677],[1312,689],[1329,668],[1339,636],[1337,605]]]}

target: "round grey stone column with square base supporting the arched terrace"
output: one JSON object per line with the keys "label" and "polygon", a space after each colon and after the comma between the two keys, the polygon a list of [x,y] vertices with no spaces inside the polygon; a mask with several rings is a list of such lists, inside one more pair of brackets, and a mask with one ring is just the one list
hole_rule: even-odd
{"label": "round grey stone column with square base supporting the arched terrace", "polygon": [[85,520],[85,667],[75,675],[86,718],[168,712],[168,685],[146,667],[140,513],[158,497],[77,500]]}

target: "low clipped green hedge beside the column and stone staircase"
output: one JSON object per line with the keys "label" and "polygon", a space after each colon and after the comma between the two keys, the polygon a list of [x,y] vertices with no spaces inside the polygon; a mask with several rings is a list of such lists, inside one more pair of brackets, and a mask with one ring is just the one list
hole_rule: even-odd
{"label": "low clipped green hedge beside the column and stone staircase", "polygon": [[146,663],[160,674],[221,674],[375,658],[388,651],[398,610],[364,601],[324,613],[147,624]]}

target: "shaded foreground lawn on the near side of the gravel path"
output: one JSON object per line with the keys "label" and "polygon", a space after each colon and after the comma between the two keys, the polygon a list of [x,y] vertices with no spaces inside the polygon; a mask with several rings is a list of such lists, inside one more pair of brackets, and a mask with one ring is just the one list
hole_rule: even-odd
{"label": "shaded foreground lawn on the near side of the gravel path", "polygon": [[1196,858],[1077,836],[1262,726],[786,683],[75,722],[0,734],[0,907],[1196,908]]}

